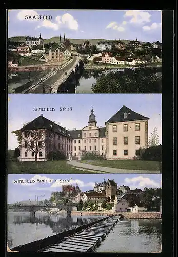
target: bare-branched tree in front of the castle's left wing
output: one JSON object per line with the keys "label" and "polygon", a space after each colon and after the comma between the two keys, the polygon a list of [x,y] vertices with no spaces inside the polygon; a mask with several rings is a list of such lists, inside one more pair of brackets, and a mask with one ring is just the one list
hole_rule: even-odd
{"label": "bare-branched tree in front of the castle's left wing", "polygon": [[[24,124],[25,126],[25,124]],[[37,161],[37,154],[45,148],[46,145],[46,131],[45,130],[30,130],[12,132],[16,135],[19,142],[19,147],[26,148],[34,152],[35,161]]]}

